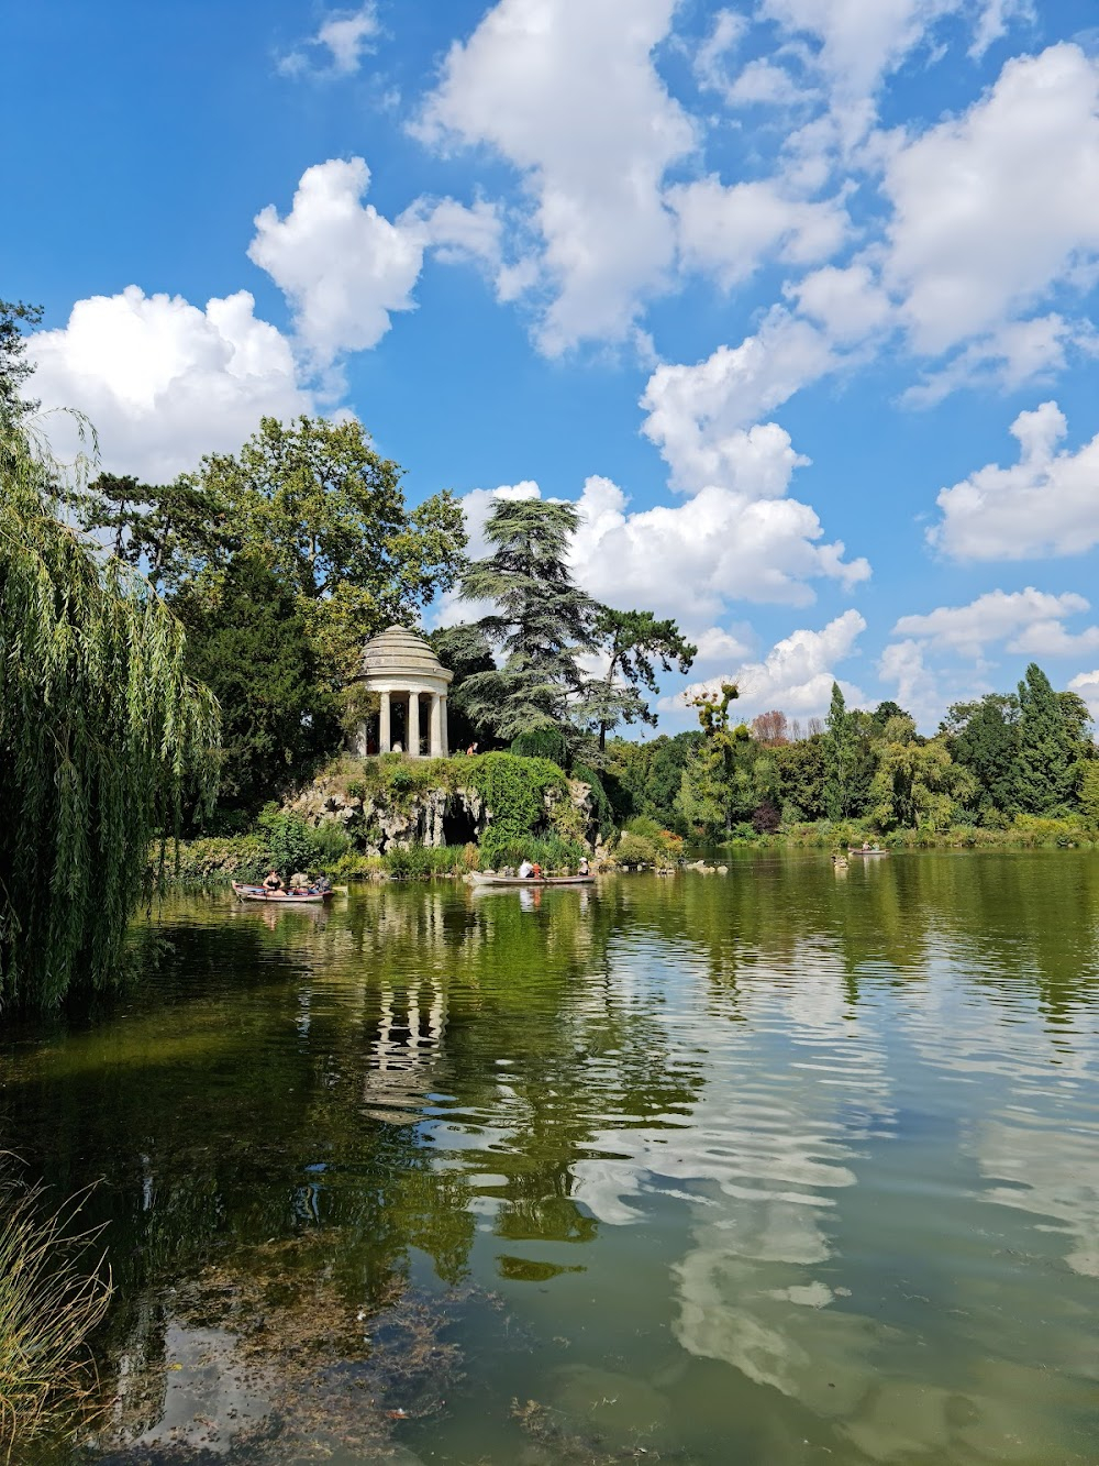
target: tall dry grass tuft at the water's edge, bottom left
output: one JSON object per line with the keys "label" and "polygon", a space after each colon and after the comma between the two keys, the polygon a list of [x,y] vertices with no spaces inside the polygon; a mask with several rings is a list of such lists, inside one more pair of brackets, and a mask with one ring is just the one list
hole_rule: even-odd
{"label": "tall dry grass tuft at the water's edge, bottom left", "polygon": [[31,1443],[79,1431],[98,1409],[88,1337],[107,1312],[111,1277],[81,1230],[81,1192],[51,1207],[0,1155],[0,1462]]}

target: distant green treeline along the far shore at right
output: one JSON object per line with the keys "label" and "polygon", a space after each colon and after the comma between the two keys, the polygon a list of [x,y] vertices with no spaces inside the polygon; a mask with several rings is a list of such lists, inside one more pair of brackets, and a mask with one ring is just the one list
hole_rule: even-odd
{"label": "distant green treeline along the far shore at right", "polygon": [[687,837],[774,834],[813,821],[894,830],[1005,830],[1017,817],[1099,824],[1099,749],[1087,705],[1032,663],[1015,692],[955,702],[933,737],[895,702],[848,710],[838,686],[806,736],[781,711],[734,724],[736,689],[697,704],[702,727],[613,739],[604,787],[618,822]]}

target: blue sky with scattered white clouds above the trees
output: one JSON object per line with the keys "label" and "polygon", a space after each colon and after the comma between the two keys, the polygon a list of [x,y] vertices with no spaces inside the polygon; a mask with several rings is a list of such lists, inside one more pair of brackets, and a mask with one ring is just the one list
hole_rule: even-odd
{"label": "blue sky with scattered white clouds above the trees", "polygon": [[[1095,0],[40,0],[0,18],[34,394],[164,481],[358,415],[577,504],[699,647],[659,732],[1039,661],[1099,715]],[[453,597],[429,620],[457,619]]]}

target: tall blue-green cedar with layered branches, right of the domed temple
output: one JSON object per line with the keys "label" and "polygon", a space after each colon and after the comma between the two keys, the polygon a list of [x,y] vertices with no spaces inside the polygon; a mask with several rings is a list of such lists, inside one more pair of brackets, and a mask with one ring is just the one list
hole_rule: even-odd
{"label": "tall blue-green cedar with layered branches, right of the domed temple", "polygon": [[595,603],[567,564],[577,523],[571,504],[498,500],[485,525],[492,553],[462,578],[463,600],[495,605],[476,629],[500,663],[466,679],[466,707],[503,740],[539,727],[576,739],[571,707],[585,685],[579,658],[596,649]]}

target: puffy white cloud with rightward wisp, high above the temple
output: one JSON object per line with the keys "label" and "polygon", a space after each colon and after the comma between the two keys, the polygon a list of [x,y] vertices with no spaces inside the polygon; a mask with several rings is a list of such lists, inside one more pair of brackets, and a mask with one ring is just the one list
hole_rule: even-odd
{"label": "puffy white cloud with rightward wisp, high above the temple", "polygon": [[363,202],[371,170],[362,158],[306,169],[284,217],[268,204],[255,220],[249,258],[290,299],[302,343],[319,366],[366,350],[391,317],[415,309],[423,252],[495,262],[500,221],[488,204],[418,199],[396,221]]}

